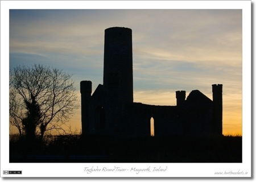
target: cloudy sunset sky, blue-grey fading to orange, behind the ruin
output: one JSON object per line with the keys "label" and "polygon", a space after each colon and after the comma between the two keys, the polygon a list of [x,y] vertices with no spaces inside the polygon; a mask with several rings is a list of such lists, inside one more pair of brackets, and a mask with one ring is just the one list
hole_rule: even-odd
{"label": "cloudy sunset sky, blue-grey fading to orange, behind the ruin", "polygon": [[[223,134],[242,135],[242,10],[10,10],[9,67],[43,64],[93,91],[103,84],[104,30],[133,31],[134,102],[176,105],[175,91],[212,99],[223,84]],[[68,123],[81,129],[81,110]],[[10,129],[14,132],[14,129]]]}

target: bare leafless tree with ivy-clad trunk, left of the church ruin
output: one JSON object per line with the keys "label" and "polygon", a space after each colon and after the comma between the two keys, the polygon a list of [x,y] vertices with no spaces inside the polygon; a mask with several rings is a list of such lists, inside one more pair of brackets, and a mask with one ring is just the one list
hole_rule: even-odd
{"label": "bare leafless tree with ivy-clad trunk, left of the church ruin", "polygon": [[19,133],[41,138],[48,130],[64,130],[78,102],[71,75],[43,65],[10,71],[10,124]]}

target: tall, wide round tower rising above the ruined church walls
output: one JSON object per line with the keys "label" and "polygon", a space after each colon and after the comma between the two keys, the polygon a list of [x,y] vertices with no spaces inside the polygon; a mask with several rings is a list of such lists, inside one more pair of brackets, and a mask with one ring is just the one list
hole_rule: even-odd
{"label": "tall, wide round tower rising above the ruined church walls", "polygon": [[118,94],[114,97],[121,102],[133,102],[132,49],[130,28],[105,30],[103,85],[109,89],[109,94]]}

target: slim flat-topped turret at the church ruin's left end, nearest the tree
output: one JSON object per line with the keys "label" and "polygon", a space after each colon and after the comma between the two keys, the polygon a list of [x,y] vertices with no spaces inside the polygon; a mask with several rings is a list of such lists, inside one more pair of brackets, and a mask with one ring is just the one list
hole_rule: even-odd
{"label": "slim flat-topped turret at the church ruin's left end, nearest the tree", "polygon": [[89,133],[88,104],[92,94],[92,81],[80,82],[82,134]]}

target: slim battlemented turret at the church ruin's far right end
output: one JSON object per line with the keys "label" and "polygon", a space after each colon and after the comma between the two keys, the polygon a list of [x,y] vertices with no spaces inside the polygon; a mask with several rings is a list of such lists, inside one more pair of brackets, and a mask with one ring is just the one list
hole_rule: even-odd
{"label": "slim battlemented turret at the church ruin's far right end", "polygon": [[222,84],[212,85],[213,133],[222,135]]}

